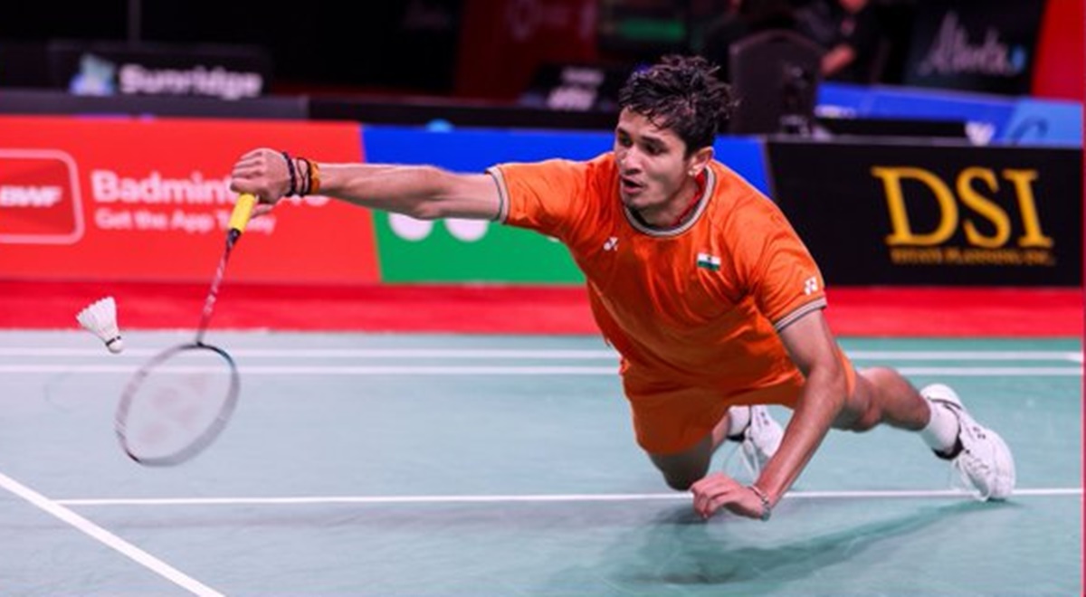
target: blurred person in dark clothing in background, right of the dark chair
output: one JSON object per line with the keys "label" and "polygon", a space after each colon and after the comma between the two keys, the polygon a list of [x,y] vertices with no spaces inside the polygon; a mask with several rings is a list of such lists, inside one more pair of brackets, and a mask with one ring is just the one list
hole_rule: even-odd
{"label": "blurred person in dark clothing in background, right of the dark chair", "polygon": [[822,78],[876,82],[886,42],[870,0],[810,0],[795,11],[796,30],[825,49]]}

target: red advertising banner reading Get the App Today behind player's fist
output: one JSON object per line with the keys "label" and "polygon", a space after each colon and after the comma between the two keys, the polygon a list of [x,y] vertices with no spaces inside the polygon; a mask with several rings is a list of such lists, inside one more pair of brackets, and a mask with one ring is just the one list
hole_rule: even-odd
{"label": "red advertising banner reading Get the App Today behind player's fist", "polygon": [[[0,278],[200,282],[222,255],[230,167],[254,147],[358,162],[358,126],[0,117]],[[377,281],[369,212],[288,198],[250,223],[233,281]]]}

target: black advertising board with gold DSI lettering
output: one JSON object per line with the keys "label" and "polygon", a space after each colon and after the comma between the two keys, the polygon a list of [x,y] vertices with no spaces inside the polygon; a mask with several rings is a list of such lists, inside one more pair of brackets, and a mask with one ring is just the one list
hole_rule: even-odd
{"label": "black advertising board with gold DSI lettering", "polygon": [[778,140],[769,155],[831,283],[1081,284],[1078,150]]}

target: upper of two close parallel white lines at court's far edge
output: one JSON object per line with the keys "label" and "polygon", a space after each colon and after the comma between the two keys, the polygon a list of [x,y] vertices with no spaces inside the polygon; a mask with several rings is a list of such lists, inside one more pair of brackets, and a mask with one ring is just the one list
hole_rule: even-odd
{"label": "upper of two close parallel white lines at court's far edge", "polygon": [[[0,356],[59,357],[87,356],[121,358],[152,356],[160,351],[127,348],[121,355],[106,354],[104,348],[0,347]],[[618,353],[609,350],[521,350],[521,348],[237,348],[236,357],[247,358],[521,358],[615,360]],[[853,360],[1066,360],[1083,363],[1083,353],[1074,351],[846,351]]]}

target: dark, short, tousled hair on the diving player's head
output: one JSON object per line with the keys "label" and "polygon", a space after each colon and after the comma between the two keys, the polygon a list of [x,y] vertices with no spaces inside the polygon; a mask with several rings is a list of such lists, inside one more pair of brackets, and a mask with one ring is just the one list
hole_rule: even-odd
{"label": "dark, short, tousled hair on the diving player's head", "polygon": [[686,153],[712,145],[727,128],[734,101],[719,67],[702,56],[667,55],[630,75],[619,91],[619,107],[630,109],[686,143]]}

